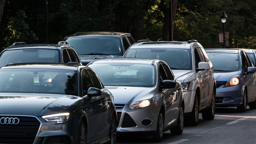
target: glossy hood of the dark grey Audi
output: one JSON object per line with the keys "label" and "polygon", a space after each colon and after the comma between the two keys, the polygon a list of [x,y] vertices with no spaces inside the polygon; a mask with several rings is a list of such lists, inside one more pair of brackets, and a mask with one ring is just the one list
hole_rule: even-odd
{"label": "glossy hood of the dark grey Audi", "polygon": [[60,94],[0,93],[0,114],[43,116],[62,113],[80,97]]}

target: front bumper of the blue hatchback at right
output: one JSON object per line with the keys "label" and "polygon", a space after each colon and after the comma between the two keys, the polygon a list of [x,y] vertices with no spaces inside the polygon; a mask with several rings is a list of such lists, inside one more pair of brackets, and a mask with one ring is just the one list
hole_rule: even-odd
{"label": "front bumper of the blue hatchback at right", "polygon": [[216,89],[216,107],[240,106],[243,102],[243,85],[223,86]]}

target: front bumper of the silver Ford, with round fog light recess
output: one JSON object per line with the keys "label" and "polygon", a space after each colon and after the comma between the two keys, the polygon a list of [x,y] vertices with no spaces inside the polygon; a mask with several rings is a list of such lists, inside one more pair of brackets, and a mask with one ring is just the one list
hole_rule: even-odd
{"label": "front bumper of the silver Ford, with round fog light recess", "polygon": [[117,109],[117,132],[154,134],[158,121],[159,110],[156,106],[132,110],[129,105],[119,105]]}

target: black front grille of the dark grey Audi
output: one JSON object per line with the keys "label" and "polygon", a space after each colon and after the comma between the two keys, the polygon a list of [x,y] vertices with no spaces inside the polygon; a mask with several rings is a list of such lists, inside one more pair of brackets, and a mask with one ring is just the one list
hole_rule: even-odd
{"label": "black front grille of the dark grey Audi", "polygon": [[[18,124],[1,124],[0,123],[0,143],[33,143],[38,129],[40,127],[40,122],[36,117],[31,116],[0,116],[1,118],[18,118]],[[2,119],[2,120],[3,120]],[[3,121],[1,121],[3,123]],[[8,123],[8,122],[7,122]]]}

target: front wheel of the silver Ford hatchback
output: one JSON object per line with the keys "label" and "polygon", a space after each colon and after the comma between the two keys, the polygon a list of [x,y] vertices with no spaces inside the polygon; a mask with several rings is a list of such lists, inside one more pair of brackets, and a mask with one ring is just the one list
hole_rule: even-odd
{"label": "front wheel of the silver Ford hatchback", "polygon": [[164,113],[162,112],[162,110],[160,110],[158,120],[157,120],[156,133],[153,136],[153,140],[155,142],[161,142],[163,140],[163,134],[164,134]]}

